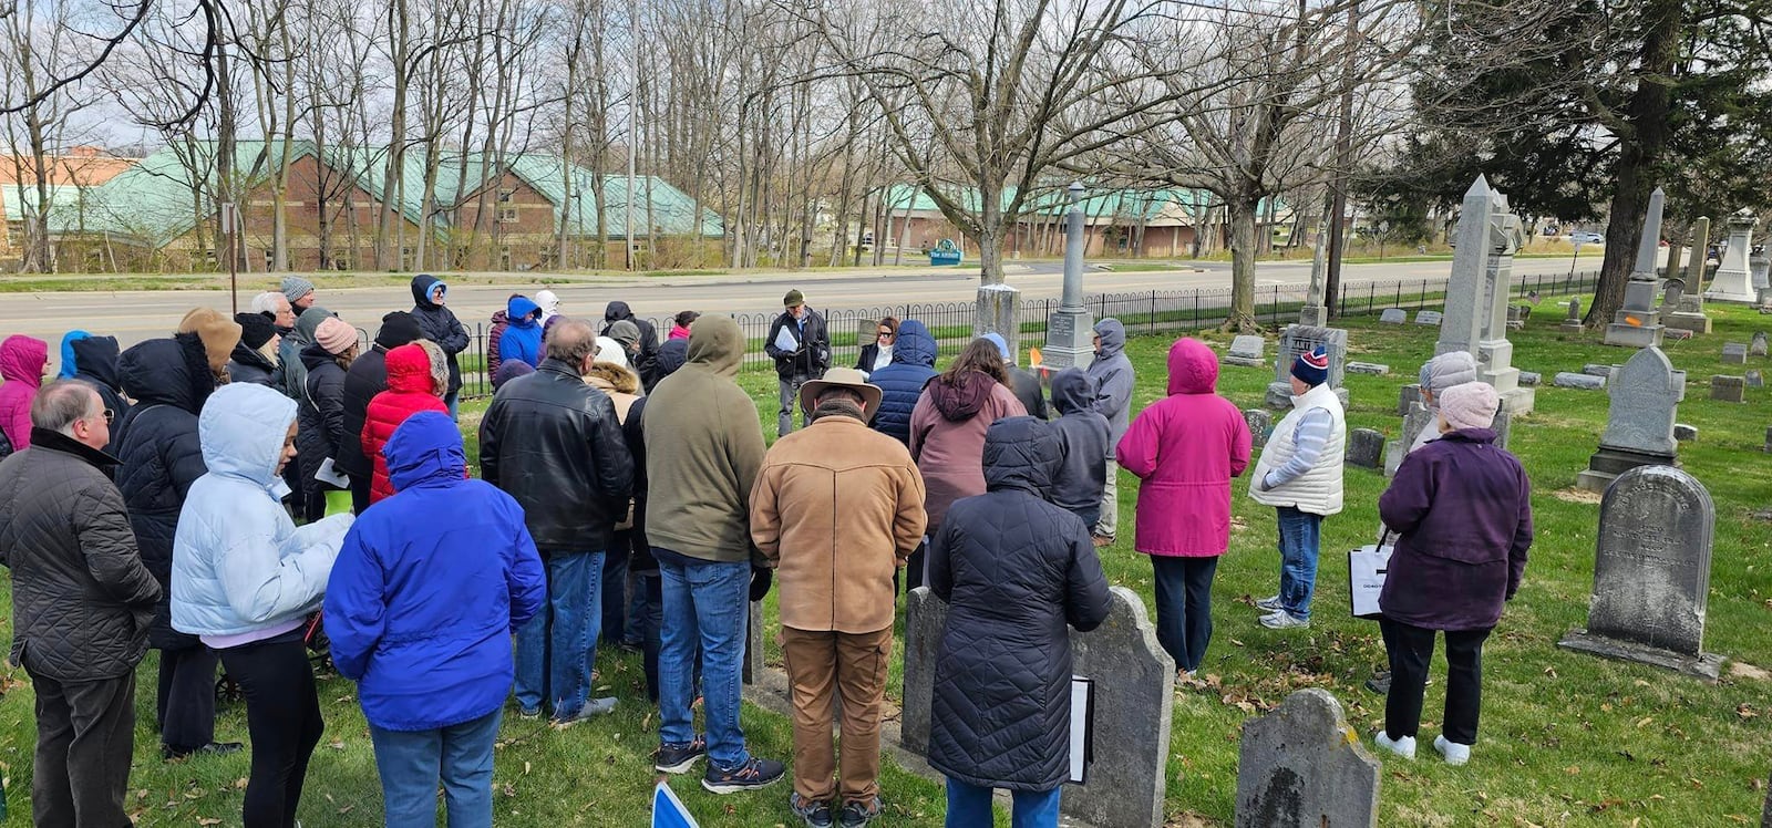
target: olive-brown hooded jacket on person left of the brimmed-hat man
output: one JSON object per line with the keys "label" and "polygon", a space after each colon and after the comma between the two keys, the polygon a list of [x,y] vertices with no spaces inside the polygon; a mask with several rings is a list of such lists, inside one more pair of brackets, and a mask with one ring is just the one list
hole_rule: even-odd
{"label": "olive-brown hooded jacket on person left of the brimmed-hat man", "polygon": [[734,382],[744,331],[727,317],[702,317],[689,361],[647,396],[647,540],[703,561],[753,561],[751,487],[764,464],[757,403]]}

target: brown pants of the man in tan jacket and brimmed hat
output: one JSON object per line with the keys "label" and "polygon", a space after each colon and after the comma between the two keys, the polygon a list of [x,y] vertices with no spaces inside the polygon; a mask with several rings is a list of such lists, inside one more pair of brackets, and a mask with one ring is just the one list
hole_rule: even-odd
{"label": "brown pants of the man in tan jacket and brimmed hat", "polygon": [[[804,801],[872,801],[879,796],[881,701],[891,658],[891,626],[870,633],[781,628],[781,660],[794,688],[794,793]],[[833,694],[842,694],[842,784],[833,786]],[[840,805],[840,803],[836,803]]]}

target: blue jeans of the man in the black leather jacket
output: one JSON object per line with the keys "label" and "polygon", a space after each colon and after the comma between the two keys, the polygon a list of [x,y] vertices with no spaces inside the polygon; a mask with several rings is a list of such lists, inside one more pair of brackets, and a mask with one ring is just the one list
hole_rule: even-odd
{"label": "blue jeans of the man in the black leather jacket", "polygon": [[517,630],[517,706],[572,718],[590,697],[602,623],[602,552],[549,552],[548,607]]}

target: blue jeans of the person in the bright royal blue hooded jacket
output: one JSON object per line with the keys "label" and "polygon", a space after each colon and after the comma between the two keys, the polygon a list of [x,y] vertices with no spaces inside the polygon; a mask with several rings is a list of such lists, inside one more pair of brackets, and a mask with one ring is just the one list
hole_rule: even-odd
{"label": "blue jeans of the person in the bright royal blue hooded jacket", "polygon": [[369,725],[381,773],[388,828],[436,828],[438,780],[448,805],[448,828],[493,826],[494,709],[471,722],[436,731],[383,731]]}

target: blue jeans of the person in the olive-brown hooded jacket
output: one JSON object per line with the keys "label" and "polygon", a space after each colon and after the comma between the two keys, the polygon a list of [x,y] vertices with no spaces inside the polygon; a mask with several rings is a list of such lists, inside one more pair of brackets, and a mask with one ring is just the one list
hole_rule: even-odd
{"label": "blue jeans of the person in the olive-brown hooded jacket", "polygon": [[[668,552],[668,550],[666,550]],[[695,656],[702,649],[707,755],[718,768],[751,759],[739,727],[739,667],[750,625],[750,561],[689,564],[659,556],[664,626],[659,633],[659,741],[695,741]]]}

